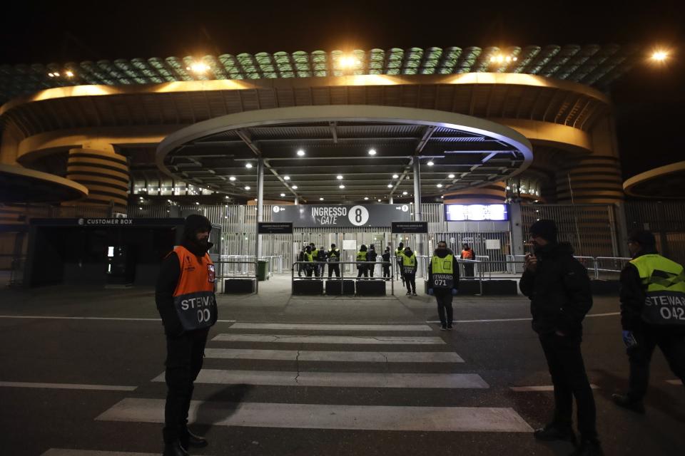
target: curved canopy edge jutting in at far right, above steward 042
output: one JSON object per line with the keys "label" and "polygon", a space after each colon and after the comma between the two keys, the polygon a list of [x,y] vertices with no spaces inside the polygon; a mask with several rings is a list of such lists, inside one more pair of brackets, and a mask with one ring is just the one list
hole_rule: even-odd
{"label": "curved canopy edge jutting in at far right, above steward 042", "polygon": [[626,195],[644,198],[685,198],[685,161],[641,172],[623,183]]}

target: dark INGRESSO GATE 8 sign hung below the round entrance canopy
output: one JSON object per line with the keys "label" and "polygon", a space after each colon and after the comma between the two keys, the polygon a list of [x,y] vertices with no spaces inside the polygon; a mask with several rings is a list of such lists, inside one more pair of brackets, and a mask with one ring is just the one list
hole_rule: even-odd
{"label": "dark INGRESSO GATE 8 sign hung below the round entrance canopy", "polygon": [[272,210],[274,222],[294,227],[390,227],[394,220],[411,220],[408,204],[300,204]]}

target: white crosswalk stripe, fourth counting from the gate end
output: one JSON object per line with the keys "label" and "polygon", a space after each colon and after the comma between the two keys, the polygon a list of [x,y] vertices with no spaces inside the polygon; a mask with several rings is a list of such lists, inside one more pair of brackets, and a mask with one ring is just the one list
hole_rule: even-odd
{"label": "white crosswalk stripe, fourth counting from the gate end", "polygon": [[[164,381],[164,373],[155,382]],[[488,388],[473,373],[349,373],[222,371],[203,369],[196,383],[230,385],[337,386],[339,388]]]}

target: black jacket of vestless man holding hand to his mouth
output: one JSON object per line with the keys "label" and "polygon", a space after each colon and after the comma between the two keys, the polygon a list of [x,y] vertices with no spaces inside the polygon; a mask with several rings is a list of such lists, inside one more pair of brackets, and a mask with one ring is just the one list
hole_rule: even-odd
{"label": "black jacket of vestless man holding hand to his mouth", "polygon": [[547,244],[536,249],[537,270],[524,271],[519,287],[530,299],[537,333],[582,332],[582,321],[592,308],[587,269],[573,257],[571,244]]}

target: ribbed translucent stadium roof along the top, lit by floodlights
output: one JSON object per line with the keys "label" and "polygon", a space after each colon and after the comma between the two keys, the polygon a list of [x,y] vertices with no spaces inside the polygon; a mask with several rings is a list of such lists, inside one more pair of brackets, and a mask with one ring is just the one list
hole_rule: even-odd
{"label": "ribbed translucent stadium roof along the top, lit by floodlights", "polygon": [[[0,65],[0,103],[46,88],[131,86],[173,81],[312,78],[345,75],[522,73],[605,88],[641,58],[639,48],[614,44],[475,46],[343,51],[260,52],[168,58],[120,58],[64,64]],[[193,63],[207,71],[193,72]]]}

